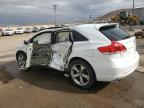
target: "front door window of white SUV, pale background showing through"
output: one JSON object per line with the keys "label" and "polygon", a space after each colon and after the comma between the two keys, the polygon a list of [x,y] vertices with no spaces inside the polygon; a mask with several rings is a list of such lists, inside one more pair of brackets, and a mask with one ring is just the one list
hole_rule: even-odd
{"label": "front door window of white SUV, pale background showing through", "polygon": [[51,43],[51,33],[43,33],[34,38],[33,42],[37,44],[49,44]]}

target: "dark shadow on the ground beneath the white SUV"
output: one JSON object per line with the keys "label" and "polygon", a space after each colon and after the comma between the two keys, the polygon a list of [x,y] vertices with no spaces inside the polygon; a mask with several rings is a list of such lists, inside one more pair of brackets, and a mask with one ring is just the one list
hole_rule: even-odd
{"label": "dark shadow on the ground beneath the white SUV", "polygon": [[29,71],[20,72],[15,61],[4,63],[0,67],[3,67],[3,71],[11,75],[13,79],[20,79],[31,85],[48,90],[87,94],[97,93],[109,84],[107,82],[96,82],[93,88],[83,90],[75,87],[69,78],[64,76],[63,72],[57,70],[36,66]]}

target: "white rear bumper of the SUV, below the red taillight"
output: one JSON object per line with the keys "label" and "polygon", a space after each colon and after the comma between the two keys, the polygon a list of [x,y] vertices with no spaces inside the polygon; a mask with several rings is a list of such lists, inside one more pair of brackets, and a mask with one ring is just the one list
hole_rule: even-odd
{"label": "white rear bumper of the SUV, below the red taillight", "polygon": [[135,57],[121,61],[111,61],[104,63],[103,67],[95,67],[98,81],[114,81],[127,77],[133,73],[139,65],[139,54]]}

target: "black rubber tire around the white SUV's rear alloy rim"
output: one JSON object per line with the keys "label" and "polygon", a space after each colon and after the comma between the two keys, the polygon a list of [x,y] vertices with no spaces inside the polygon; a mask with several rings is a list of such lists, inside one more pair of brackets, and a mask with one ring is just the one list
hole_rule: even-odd
{"label": "black rubber tire around the white SUV's rear alloy rim", "polygon": [[[84,84],[84,85],[82,85],[82,84],[78,84],[78,83],[76,83],[77,81],[76,81],[76,79],[74,80],[74,75],[72,75],[73,74],[73,67],[74,66],[78,66],[78,64],[79,65],[82,65],[84,68],[85,68],[85,70],[83,70],[83,72],[81,72],[82,74],[84,74],[84,72],[85,73],[87,73],[87,76],[89,76],[88,78],[89,78],[89,81],[86,83],[86,84]],[[81,70],[81,69],[80,69]],[[92,67],[87,63],[87,62],[85,62],[84,60],[74,60],[74,61],[72,61],[71,63],[70,63],[70,65],[69,65],[69,69],[68,69],[68,72],[69,72],[69,76],[70,76],[70,80],[71,80],[71,82],[76,86],[76,87],[78,87],[78,88],[82,88],[82,89],[90,89],[90,88],[92,88],[93,87],[93,85],[96,83],[96,75],[95,75],[95,73],[94,73],[94,71],[93,71],[93,69],[92,69]],[[89,75],[88,75],[89,74]],[[85,74],[86,75],[86,74]],[[83,75],[81,75],[81,76],[83,76]],[[79,80],[80,80],[81,78],[79,78]],[[83,82],[84,82],[84,77],[83,77]],[[86,79],[85,79],[86,80]],[[80,81],[81,82],[81,81]],[[80,83],[79,82],[79,83]]]}

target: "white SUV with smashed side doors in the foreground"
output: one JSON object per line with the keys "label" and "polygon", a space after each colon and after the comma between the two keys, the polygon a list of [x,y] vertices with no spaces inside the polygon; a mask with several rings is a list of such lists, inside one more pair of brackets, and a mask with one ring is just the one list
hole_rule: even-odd
{"label": "white SUV with smashed side doors in the foreground", "polygon": [[139,65],[135,37],[112,23],[43,30],[17,48],[16,59],[21,70],[44,65],[68,72],[80,88],[124,78]]}

